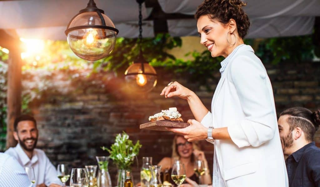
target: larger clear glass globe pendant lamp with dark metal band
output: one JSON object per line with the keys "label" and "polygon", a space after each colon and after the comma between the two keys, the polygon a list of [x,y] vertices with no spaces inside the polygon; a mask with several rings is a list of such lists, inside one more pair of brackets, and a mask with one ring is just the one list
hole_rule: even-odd
{"label": "larger clear glass globe pendant lamp with dark metal band", "polygon": [[96,61],[110,54],[119,30],[93,0],[80,10],[65,31],[71,50],[80,58]]}

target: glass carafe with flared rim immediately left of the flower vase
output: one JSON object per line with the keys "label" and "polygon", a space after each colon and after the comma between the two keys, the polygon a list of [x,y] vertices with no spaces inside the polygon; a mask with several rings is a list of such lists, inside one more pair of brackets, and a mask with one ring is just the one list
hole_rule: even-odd
{"label": "glass carafe with flared rim immediately left of the flower vase", "polygon": [[99,165],[97,177],[98,187],[111,187],[110,174],[108,172],[109,157],[96,157]]}

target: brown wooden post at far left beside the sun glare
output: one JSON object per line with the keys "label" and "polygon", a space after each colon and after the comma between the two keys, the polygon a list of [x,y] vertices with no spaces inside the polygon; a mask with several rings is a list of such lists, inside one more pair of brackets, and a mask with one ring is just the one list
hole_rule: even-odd
{"label": "brown wooden post at far left beside the sun glare", "polygon": [[21,112],[21,67],[20,39],[14,31],[0,30],[0,46],[9,49],[8,86],[7,86],[7,137],[6,148],[14,147],[17,141],[13,137],[14,119]]}

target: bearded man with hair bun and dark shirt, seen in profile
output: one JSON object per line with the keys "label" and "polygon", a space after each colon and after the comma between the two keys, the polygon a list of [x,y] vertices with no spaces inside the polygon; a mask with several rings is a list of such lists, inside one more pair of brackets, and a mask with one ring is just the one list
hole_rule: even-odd
{"label": "bearded man with hair bun and dark shirt, seen in profile", "polygon": [[293,107],[283,111],[278,120],[284,155],[288,156],[289,186],[320,186],[320,149],[313,137],[320,124],[320,110]]}

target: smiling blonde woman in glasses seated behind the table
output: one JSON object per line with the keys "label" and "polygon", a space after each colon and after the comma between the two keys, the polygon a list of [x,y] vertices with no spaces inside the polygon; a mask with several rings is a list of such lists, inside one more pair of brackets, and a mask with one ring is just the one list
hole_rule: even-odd
{"label": "smiling blonde woman in glasses seated behind the table", "polygon": [[[184,164],[186,169],[186,176],[196,183],[199,184],[199,178],[195,174],[194,163],[195,160],[201,160],[204,163],[205,171],[204,176],[201,177],[201,184],[211,184],[212,179],[210,175],[210,170],[208,169],[208,162],[205,159],[204,152],[200,151],[199,148],[193,142],[188,142],[183,136],[176,135],[172,142],[172,157],[164,157],[159,163],[159,166],[162,166],[162,174],[168,172],[170,183],[175,183],[171,178],[171,171],[173,163],[179,160],[180,163]],[[163,174],[164,175],[164,174]],[[186,182],[185,182],[186,183]]]}

